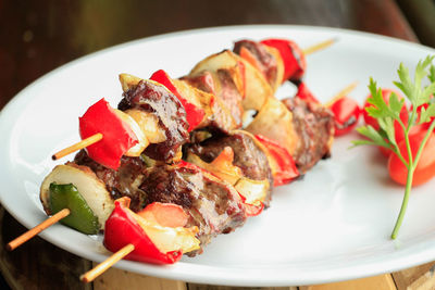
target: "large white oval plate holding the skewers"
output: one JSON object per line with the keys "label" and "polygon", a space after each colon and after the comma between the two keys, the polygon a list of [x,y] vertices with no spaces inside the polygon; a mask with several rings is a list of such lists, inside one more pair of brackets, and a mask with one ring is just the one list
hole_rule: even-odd
{"label": "large white oval plate holding the skewers", "polygon": [[[149,77],[159,68],[182,76],[208,54],[233,41],[290,38],[302,48],[337,38],[308,56],[306,81],[322,101],[359,80],[351,93],[361,103],[369,77],[391,87],[400,62],[414,67],[435,54],[430,48],[341,29],[303,26],[217,27],[147,38],[69,63],[20,92],[0,115],[0,199],[26,227],[46,218],[38,198],[44,177],[55,165],[51,154],[78,140],[77,117],[101,97],[116,105],[119,73]],[[278,94],[289,94],[283,88]],[[387,177],[385,160],[373,148],[348,150],[350,135],[336,139],[333,157],[321,161],[303,180],[274,190],[270,210],[222,235],[200,256],[173,266],[122,261],[115,266],[141,274],[202,283],[289,286],[388,273],[435,260],[435,180],[413,189],[399,239],[389,234],[403,188]],[[60,163],[65,162],[62,160]],[[108,252],[101,237],[62,225],[42,238],[94,261]],[[16,251],[20,251],[16,250]]]}

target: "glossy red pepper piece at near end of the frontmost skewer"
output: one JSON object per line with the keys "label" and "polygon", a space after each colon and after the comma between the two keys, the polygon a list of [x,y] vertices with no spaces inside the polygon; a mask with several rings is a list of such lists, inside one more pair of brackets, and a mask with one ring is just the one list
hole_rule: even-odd
{"label": "glossy red pepper piece at near end of the frontmost skewer", "polygon": [[145,263],[173,264],[183,255],[181,250],[162,253],[120,201],[115,201],[115,209],[105,222],[103,243],[111,252],[130,243],[135,250],[125,259]]}

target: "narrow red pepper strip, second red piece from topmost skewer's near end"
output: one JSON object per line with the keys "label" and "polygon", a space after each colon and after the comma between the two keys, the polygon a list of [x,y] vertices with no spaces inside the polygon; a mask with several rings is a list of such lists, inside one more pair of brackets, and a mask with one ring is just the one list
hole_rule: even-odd
{"label": "narrow red pepper strip, second red piece from topmost skewer's near end", "polygon": [[186,119],[189,124],[188,131],[194,130],[202,122],[203,117],[206,116],[206,112],[179,94],[166,72],[159,70],[152,74],[150,79],[165,86],[166,89],[177,97],[178,101],[183,104],[184,110],[186,110]]}

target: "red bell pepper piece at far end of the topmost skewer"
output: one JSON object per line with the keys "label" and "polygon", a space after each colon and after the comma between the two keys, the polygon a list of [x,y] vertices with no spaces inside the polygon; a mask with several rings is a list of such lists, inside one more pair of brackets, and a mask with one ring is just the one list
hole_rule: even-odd
{"label": "red bell pepper piece at far end of the topmost skewer", "polygon": [[307,67],[306,56],[302,50],[294,41],[287,39],[264,39],[261,43],[273,47],[279,51],[284,63],[285,80],[299,80]]}

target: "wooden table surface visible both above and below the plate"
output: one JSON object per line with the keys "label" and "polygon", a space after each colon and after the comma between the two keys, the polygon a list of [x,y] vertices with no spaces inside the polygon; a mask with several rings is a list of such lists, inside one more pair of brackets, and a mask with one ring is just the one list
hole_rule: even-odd
{"label": "wooden table surface visible both above and below the plate", "polygon": [[[0,109],[36,78],[92,51],[163,33],[237,24],[331,26],[418,41],[393,0],[0,1]],[[117,269],[83,285],[78,276],[91,262],[40,238],[7,252],[4,244],[25,228],[2,209],[0,226],[0,269],[12,289],[228,289]],[[300,289],[430,289],[421,287],[433,283],[432,264]],[[8,288],[4,281],[0,287]]]}

